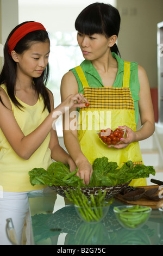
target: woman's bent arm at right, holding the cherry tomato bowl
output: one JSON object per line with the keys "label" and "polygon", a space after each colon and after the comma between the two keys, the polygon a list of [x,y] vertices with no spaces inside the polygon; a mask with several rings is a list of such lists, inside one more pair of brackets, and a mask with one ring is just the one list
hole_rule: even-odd
{"label": "woman's bent arm at right, holding the cherry tomato bowl", "polygon": [[123,126],[127,130],[127,138],[123,138],[123,144],[114,146],[115,148],[127,147],[131,142],[142,141],[152,136],[155,130],[155,120],[153,104],[151,99],[151,90],[145,69],[138,65],[138,77],[140,83],[139,92],[139,114],[141,119],[141,128],[133,132],[129,127]]}

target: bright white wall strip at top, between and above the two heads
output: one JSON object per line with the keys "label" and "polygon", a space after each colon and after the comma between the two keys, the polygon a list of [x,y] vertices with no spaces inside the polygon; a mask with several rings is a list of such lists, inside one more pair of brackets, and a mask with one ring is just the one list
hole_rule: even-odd
{"label": "bright white wall strip at top, between and above the two heads", "polygon": [[[48,32],[72,32],[74,21],[80,11],[96,1],[91,0],[18,0],[19,23],[23,21],[41,22]],[[98,1],[115,5],[116,0]]]}

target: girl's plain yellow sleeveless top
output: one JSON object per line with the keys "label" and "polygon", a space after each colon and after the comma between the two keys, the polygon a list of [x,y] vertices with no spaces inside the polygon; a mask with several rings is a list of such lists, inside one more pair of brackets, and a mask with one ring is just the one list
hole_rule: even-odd
{"label": "girl's plain yellow sleeveless top", "polygon": [[[4,84],[1,87],[7,93]],[[10,97],[9,97],[10,99]],[[25,136],[34,131],[48,115],[48,110],[42,112],[44,104],[40,95],[34,106],[29,106],[16,98],[24,107],[22,110],[17,108],[11,101],[12,112]],[[29,181],[28,172],[33,168],[42,167],[47,169],[52,163],[51,150],[49,149],[50,133],[45,141],[35,151],[29,160],[24,160],[18,156],[11,148],[0,129],[0,186],[3,191],[8,192],[24,192],[31,190],[39,190],[45,186],[32,186]]]}

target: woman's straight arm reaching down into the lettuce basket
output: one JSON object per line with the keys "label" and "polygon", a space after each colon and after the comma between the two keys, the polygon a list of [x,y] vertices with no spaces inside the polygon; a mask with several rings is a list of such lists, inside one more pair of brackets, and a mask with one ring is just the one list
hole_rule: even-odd
{"label": "woman's straight arm reaching down into the lettuce basket", "polygon": [[[70,93],[78,93],[78,83],[76,77],[73,75],[71,71],[65,74],[62,78],[61,100],[64,101],[67,95]],[[76,163],[76,166],[78,167],[77,175],[80,176],[81,179],[84,179],[85,184],[89,184],[90,177],[92,174],[92,166],[82,153],[82,150],[80,149],[77,127],[76,129],[74,129],[73,126],[73,124],[77,124],[77,117],[74,117],[74,113],[76,112],[77,108],[72,108],[70,110],[70,115],[72,114],[73,116],[72,118],[70,118],[70,116],[69,118],[66,118],[66,115],[64,115],[64,143],[68,153],[70,154],[73,161]]]}

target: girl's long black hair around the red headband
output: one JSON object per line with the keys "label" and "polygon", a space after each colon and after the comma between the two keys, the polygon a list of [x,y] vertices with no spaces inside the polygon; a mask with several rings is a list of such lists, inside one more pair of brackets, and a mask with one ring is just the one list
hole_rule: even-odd
{"label": "girl's long black hair around the red headband", "polygon": [[[0,84],[2,83],[6,84],[7,92],[11,101],[14,103],[16,107],[20,109],[23,106],[21,105],[20,102],[17,101],[15,97],[15,82],[16,82],[16,70],[17,70],[16,62],[14,62],[14,60],[8,53],[8,41],[11,35],[16,31],[16,29],[27,22],[23,22],[20,25],[16,26],[9,34],[7,41],[5,42],[5,45],[4,45],[4,65],[2,68],[2,72],[0,74]],[[14,51],[18,54],[22,54],[24,51],[28,50],[30,46],[32,46],[33,42],[47,42],[47,41],[49,41],[49,36],[47,31],[38,30],[38,31],[29,32],[20,41],[17,42],[14,48]],[[46,69],[42,72],[41,76],[38,78],[33,78],[33,85],[37,92],[37,95],[39,96],[39,94],[41,94],[43,97],[43,101],[44,101],[43,110],[45,110],[45,108],[47,107],[48,111],[51,112],[49,95],[46,89],[48,75],[49,75],[49,65],[47,64]],[[0,101],[2,102],[1,97],[0,97]]]}

